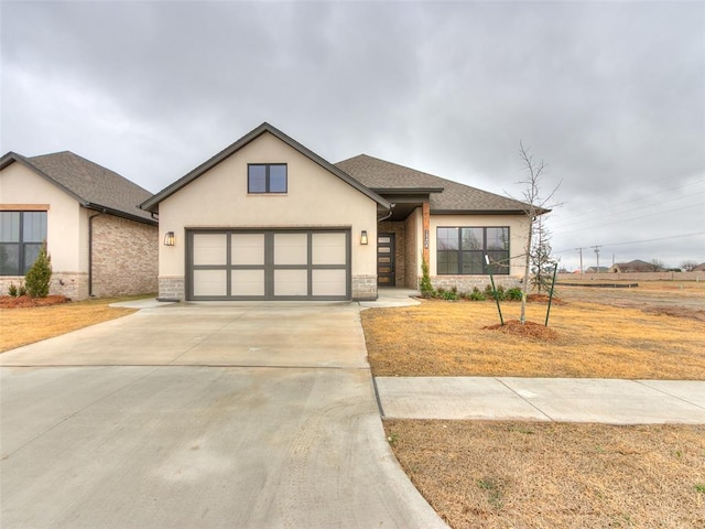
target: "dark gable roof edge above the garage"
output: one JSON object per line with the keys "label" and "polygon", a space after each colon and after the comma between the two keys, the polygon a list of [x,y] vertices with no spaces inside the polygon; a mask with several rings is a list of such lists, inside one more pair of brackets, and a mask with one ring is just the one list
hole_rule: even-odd
{"label": "dark gable roof edge above the garage", "polygon": [[217,153],[215,156],[213,156],[209,160],[205,161],[204,163],[198,165],[196,169],[194,169],[193,171],[191,171],[186,175],[184,175],[181,179],[178,179],[173,184],[164,187],[162,191],[156,193],[154,196],[152,196],[151,198],[148,198],[147,201],[144,201],[140,205],[140,207],[142,209],[145,209],[145,210],[149,210],[149,212],[158,212],[160,202],[162,202],[163,199],[165,199],[169,196],[173,195],[178,190],[181,190],[182,187],[186,186],[187,184],[189,184],[191,182],[196,180],[198,176],[203,175],[204,173],[206,173],[207,171],[209,171],[210,169],[213,169],[214,166],[216,166],[217,164],[219,164],[224,160],[228,159],[229,156],[235,154],[237,151],[239,151],[240,149],[242,149],[243,147],[246,147],[250,142],[254,141],[257,138],[259,138],[260,136],[262,136],[265,132],[269,132],[270,134],[272,134],[275,138],[280,139],[284,143],[286,143],[289,147],[291,147],[292,149],[299,151],[301,154],[303,154],[304,156],[306,156],[307,159],[310,159],[314,163],[317,163],[318,165],[321,165],[326,171],[333,173],[338,179],[343,180],[344,182],[346,182],[350,186],[355,187],[357,191],[359,191],[364,195],[367,195],[372,201],[377,202],[377,204],[379,204],[383,208],[389,209],[391,207],[391,204],[389,202],[387,202],[384,198],[382,198],[381,196],[379,196],[377,193],[375,193],[373,191],[369,190],[365,185],[361,185],[359,181],[350,177],[344,171],[341,171],[340,169],[336,168],[330,162],[327,162],[326,160],[321,158],[318,154],[316,154],[312,150],[307,149],[306,147],[302,145],[296,140],[294,140],[293,138],[286,136],[284,132],[282,132],[281,130],[276,129],[275,127],[272,127],[268,122],[263,122],[262,125],[260,125],[259,127],[257,127],[256,129],[253,129],[252,131],[248,132],[242,138],[237,140],[235,143],[230,144],[229,147],[226,147],[223,151]]}

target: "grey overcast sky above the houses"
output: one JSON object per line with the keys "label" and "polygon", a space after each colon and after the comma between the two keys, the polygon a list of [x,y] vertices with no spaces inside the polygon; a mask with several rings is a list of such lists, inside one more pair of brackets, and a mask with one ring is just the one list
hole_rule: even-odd
{"label": "grey overcast sky above the houses", "polygon": [[0,3],[0,151],[158,192],[262,121],[521,197],[568,269],[705,261],[705,2]]}

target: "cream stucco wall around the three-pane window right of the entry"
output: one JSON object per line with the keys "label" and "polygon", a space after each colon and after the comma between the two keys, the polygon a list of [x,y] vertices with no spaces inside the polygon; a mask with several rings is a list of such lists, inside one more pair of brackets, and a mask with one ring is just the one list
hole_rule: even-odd
{"label": "cream stucco wall around the three-pane window right of the entry", "polygon": [[524,215],[431,215],[431,276],[437,274],[436,268],[436,228],[438,227],[509,227],[509,252],[512,257],[510,276],[523,274],[524,248],[528,238],[528,219]]}

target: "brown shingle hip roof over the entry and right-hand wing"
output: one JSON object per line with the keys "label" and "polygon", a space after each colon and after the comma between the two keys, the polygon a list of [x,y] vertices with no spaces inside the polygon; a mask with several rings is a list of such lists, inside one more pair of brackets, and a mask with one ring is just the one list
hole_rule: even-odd
{"label": "brown shingle hip roof over the entry and right-hand wing", "polygon": [[[408,192],[414,188],[430,193],[434,214],[524,214],[525,205],[513,198],[470,187],[433,174],[398,165],[379,158],[360,154],[335,164],[362,185],[378,193]],[[542,213],[547,213],[544,209]]]}

